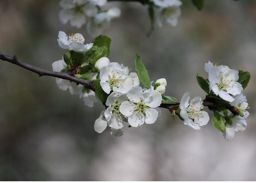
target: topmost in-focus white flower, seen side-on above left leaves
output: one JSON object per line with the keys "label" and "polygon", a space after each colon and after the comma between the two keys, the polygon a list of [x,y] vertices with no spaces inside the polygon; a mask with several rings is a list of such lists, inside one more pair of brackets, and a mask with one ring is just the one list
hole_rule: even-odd
{"label": "topmost in-focus white flower, seen side-on above left leaves", "polygon": [[74,51],[87,51],[93,46],[93,43],[84,44],[84,37],[82,34],[67,34],[63,31],[59,31],[58,44],[62,49],[71,49]]}

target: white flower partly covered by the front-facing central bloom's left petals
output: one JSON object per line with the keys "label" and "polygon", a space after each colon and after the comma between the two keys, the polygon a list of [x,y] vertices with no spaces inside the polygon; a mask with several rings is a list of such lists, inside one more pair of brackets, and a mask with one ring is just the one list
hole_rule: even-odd
{"label": "white flower partly covered by the front-facing central bloom's left petals", "polygon": [[108,108],[104,112],[105,119],[108,121],[108,126],[113,129],[122,129],[123,122],[127,121],[119,111],[123,101],[128,100],[126,94],[115,94],[112,92],[106,101]]}

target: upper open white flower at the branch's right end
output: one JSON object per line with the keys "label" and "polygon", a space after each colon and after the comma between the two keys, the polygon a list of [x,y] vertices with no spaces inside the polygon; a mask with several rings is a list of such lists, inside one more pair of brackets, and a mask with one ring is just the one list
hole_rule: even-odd
{"label": "upper open white flower at the branch's right end", "polygon": [[243,91],[242,85],[237,82],[238,71],[230,69],[228,66],[213,66],[210,61],[205,64],[204,70],[209,74],[210,89],[223,100],[233,102],[235,100],[233,96]]}

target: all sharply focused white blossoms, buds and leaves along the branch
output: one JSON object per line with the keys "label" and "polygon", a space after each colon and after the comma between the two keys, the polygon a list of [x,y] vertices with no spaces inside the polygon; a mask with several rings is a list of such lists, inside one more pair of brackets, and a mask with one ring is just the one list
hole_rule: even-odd
{"label": "all sharply focused white blossoms, buds and leaves along the branch", "polygon": [[[160,2],[164,3],[158,3]],[[135,58],[136,72],[130,72],[123,64],[110,62],[108,59],[111,43],[109,37],[99,36],[88,44],[84,44],[84,40],[79,33],[67,36],[60,31],[58,44],[69,53],[52,63],[52,69],[95,84],[95,88],[86,88],[81,84],[56,78],[61,90],[79,95],[85,105],[92,107],[98,101],[104,104],[106,109],[94,123],[96,132],[102,133],[109,128],[113,136],[120,137],[125,124],[138,127],[144,123],[155,123],[161,115],[159,107],[169,109],[185,125],[199,130],[209,122],[209,114],[203,110],[204,106],[208,106],[214,113],[212,124],[226,139],[232,139],[235,132],[246,129],[249,107],[241,92],[250,80],[250,73],[208,62],[204,68],[209,74],[208,79],[197,76],[199,86],[207,93],[206,99],[195,97],[189,101],[190,94],[185,93],[179,103],[175,97],[164,95],[167,87],[165,78],[155,82],[150,80],[139,55]]]}

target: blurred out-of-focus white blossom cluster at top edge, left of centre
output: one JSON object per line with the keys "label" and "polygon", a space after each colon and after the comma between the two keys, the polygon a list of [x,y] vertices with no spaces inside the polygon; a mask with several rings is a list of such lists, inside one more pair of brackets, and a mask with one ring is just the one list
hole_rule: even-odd
{"label": "blurred out-of-focus white blossom cluster at top edge, left of centre", "polygon": [[61,0],[59,17],[62,23],[70,21],[70,25],[77,28],[86,24],[90,34],[99,35],[121,14],[116,7],[102,10],[106,3],[107,0]]}

